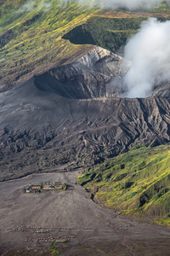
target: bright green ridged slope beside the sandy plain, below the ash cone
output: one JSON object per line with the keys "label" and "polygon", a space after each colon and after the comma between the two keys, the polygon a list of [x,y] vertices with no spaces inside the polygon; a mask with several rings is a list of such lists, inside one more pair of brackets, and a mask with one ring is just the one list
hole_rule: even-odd
{"label": "bright green ridged slope beside the sandy plain, below the ash cone", "polygon": [[87,170],[77,182],[106,207],[170,224],[170,145],[132,148]]}

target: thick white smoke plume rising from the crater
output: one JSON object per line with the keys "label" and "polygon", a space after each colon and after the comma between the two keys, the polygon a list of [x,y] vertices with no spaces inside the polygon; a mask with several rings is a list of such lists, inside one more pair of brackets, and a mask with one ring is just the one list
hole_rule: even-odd
{"label": "thick white smoke plume rising from the crater", "polygon": [[142,22],[125,47],[122,67],[127,69],[129,65],[124,96],[150,96],[156,84],[170,80],[170,21],[150,18]]}

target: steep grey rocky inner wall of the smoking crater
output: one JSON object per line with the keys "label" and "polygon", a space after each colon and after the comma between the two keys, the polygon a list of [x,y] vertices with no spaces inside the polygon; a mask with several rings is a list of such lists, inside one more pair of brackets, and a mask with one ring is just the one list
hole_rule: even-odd
{"label": "steep grey rocky inner wall of the smoking crater", "polygon": [[35,84],[66,98],[117,96],[122,89],[114,80],[121,80],[121,63],[121,56],[95,47],[77,61],[37,76]]}

